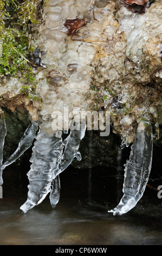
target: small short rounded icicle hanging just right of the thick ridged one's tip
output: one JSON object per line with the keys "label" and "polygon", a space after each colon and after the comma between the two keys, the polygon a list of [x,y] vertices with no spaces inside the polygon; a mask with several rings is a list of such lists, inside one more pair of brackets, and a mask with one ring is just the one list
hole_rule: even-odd
{"label": "small short rounded icicle hanging just right of the thick ridged one's tip", "polygon": [[55,208],[56,204],[59,202],[60,199],[60,178],[59,175],[53,180],[51,184],[52,190],[50,192],[50,204],[52,208]]}

